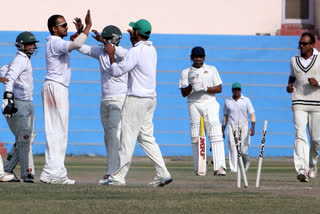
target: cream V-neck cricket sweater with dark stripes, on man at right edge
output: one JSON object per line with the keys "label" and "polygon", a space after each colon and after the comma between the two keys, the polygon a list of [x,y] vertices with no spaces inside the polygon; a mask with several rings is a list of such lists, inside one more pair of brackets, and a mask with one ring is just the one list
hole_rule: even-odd
{"label": "cream V-neck cricket sweater with dark stripes, on man at right edge", "polygon": [[309,83],[308,78],[315,78],[320,83],[320,57],[314,49],[313,55],[305,60],[301,56],[291,58],[291,74],[296,78],[293,84],[292,109],[320,112],[320,87]]}

